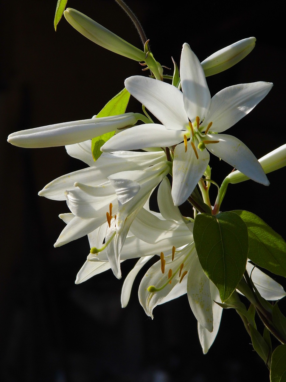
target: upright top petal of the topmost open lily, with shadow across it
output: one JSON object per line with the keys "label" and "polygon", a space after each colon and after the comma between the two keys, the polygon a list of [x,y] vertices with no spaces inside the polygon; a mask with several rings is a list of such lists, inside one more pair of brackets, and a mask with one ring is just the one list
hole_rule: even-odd
{"label": "upright top petal of the topmost open lily, with shadow across it", "polygon": [[182,49],[180,78],[188,117],[191,121],[195,121],[197,116],[202,120],[209,109],[210,92],[202,65],[186,43]]}

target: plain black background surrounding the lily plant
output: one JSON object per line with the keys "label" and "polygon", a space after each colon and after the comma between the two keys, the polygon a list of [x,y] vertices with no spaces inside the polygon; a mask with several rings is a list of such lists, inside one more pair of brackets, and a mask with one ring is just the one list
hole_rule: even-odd
{"label": "plain black background surrounding the lily plant", "polygon": [[[210,92],[236,83],[273,82],[267,97],[228,132],[258,158],[285,143],[285,45],[276,2],[127,3],[143,25],[154,57],[170,68],[171,56],[179,63],[184,42],[202,61],[255,36],[249,56],[207,79]],[[130,19],[114,1],[69,0],[67,5],[141,47]],[[157,307],[151,320],[138,303],[139,277],[125,309],[120,305],[122,280],[111,272],[74,284],[89,252],[86,237],[53,248],[64,227],[57,215],[68,208],[37,192],[54,178],[85,166],[64,147],[20,149],[6,137],[26,128],[90,118],[123,89],[126,77],[142,74],[137,62],[96,46],[64,18],[55,32],[55,6],[56,1],[20,0],[13,7],[8,2],[1,6],[1,380],[269,380],[235,312],[223,312],[214,345],[203,355],[186,296]],[[140,105],[131,101],[127,111],[140,111]],[[217,168],[213,178],[218,183],[231,170],[214,158],[211,165]],[[283,176],[284,169],[269,174],[268,188],[252,181],[230,185],[222,210],[250,210],[285,237]],[[132,264],[122,264],[123,278]],[[280,304],[285,308],[283,301]],[[262,329],[260,322],[257,325]]]}

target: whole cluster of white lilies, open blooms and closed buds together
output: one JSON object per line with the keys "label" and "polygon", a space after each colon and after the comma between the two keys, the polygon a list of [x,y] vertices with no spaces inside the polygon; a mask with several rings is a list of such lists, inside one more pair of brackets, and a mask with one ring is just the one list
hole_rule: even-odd
{"label": "whole cluster of white lilies, open blooms and closed buds together", "polygon": [[[213,97],[207,86],[206,76],[235,65],[251,52],[255,38],[238,41],[202,63],[184,44],[180,73],[175,65],[169,83],[147,44],[141,51],[78,11],[68,8],[64,15],[97,44],[145,62],[151,76],[129,77],[125,89],[153,117],[146,112],[94,116],[18,131],[10,134],[8,142],[20,147],[66,146],[69,155],[88,165],[60,176],[39,192],[49,199],[66,200],[70,210],[59,215],[66,226],[56,247],[88,236],[90,253],[76,283],[109,269],[121,278],[121,262],[138,258],[123,283],[121,303],[125,307],[136,276],[151,261],[139,285],[140,304],[153,318],[155,306],[186,293],[206,353],[219,330],[222,307],[217,303],[222,300],[199,261],[193,238],[194,219],[185,216],[178,206],[187,200],[192,202],[194,217],[198,212],[219,212],[222,190],[215,207],[207,193],[210,183],[214,183],[209,153],[236,169],[227,176],[226,185],[247,179],[268,185],[265,173],[286,164],[285,145],[257,160],[243,142],[224,134],[268,94],[272,83],[237,84]],[[114,131],[95,161],[92,139]],[[198,197],[197,186],[202,197]],[[159,212],[150,209],[154,189]],[[285,295],[281,285],[253,269],[249,261],[246,270],[252,272],[252,282],[265,299],[277,300]]]}

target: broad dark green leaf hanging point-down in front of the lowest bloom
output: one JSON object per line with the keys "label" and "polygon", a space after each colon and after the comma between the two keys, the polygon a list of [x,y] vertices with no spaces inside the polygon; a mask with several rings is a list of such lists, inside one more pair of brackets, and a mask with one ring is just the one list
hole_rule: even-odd
{"label": "broad dark green leaf hanging point-down in front of the lowest bloom", "polygon": [[198,214],[194,221],[194,242],[202,269],[226,301],[246,268],[248,232],[233,212]]}

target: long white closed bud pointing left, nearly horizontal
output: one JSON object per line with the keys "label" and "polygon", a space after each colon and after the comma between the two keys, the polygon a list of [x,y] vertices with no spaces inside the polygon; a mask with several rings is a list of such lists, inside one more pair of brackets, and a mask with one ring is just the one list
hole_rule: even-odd
{"label": "long white closed bud pointing left, nearly horizontal", "polygon": [[18,147],[56,147],[79,143],[102,134],[135,125],[138,114],[125,113],[111,117],[57,123],[17,131],[8,136],[7,141]]}

